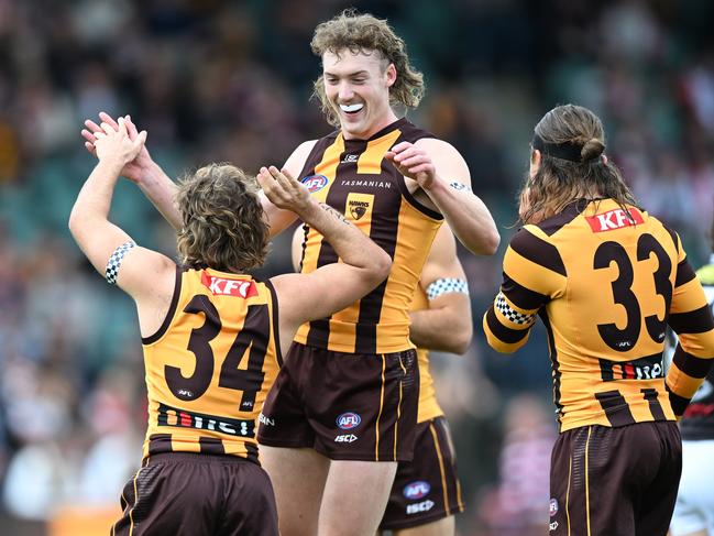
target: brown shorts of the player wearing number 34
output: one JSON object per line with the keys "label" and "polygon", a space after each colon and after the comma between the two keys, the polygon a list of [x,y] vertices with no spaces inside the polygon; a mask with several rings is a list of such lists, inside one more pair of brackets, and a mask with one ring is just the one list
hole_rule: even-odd
{"label": "brown shorts of the player wearing number 34", "polygon": [[234,456],[154,455],[127,483],[112,536],[277,536],[267,473]]}

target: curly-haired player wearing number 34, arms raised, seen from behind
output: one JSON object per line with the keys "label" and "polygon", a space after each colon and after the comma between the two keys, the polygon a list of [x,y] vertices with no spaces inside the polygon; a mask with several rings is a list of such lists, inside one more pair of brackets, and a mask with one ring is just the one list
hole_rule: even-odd
{"label": "curly-haired player wearing number 34, arms raised, seen from behind", "polygon": [[[95,267],[134,298],[144,343],[143,463],[123,490],[112,535],[276,536],[275,496],[259,463],[255,429],[282,352],[301,324],[373,289],[389,256],[276,172],[259,177],[265,195],[319,229],[343,262],[254,280],[245,271],[262,264],[268,240],[257,184],[216,164],[178,190],[180,264],[140,248],[107,215],[119,174],[145,136],[124,118],[102,123],[94,143],[99,163],[69,220]],[[319,303],[306,294],[321,296]]]}

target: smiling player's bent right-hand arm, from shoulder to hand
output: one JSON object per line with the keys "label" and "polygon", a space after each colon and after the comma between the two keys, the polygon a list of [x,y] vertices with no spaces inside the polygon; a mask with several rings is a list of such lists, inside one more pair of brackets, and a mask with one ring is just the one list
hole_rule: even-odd
{"label": "smiling player's bent right-hand arm, from shoulder to hand", "polygon": [[492,255],[501,237],[485,204],[471,190],[463,157],[449,143],[425,138],[397,143],[386,153],[404,176],[415,179],[446,218],[459,241],[475,254]]}

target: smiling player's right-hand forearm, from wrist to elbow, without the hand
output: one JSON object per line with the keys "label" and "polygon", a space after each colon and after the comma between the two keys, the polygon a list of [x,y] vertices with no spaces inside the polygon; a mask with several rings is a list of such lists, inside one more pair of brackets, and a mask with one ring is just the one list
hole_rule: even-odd
{"label": "smiling player's right-hand forearm, from wrist to elbow, without the hand", "polygon": [[492,255],[501,237],[486,205],[468,189],[455,189],[437,177],[427,190],[459,241],[471,252]]}

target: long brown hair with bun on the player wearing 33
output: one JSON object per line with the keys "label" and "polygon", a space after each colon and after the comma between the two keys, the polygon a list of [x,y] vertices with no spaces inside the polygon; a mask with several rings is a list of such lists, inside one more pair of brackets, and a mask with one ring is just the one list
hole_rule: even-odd
{"label": "long brown hair with bun on the player wearing 33", "polygon": [[627,205],[636,205],[617,166],[602,157],[603,123],[587,108],[558,106],[543,116],[534,131],[546,143],[579,147],[580,161],[541,153],[538,171],[526,178],[519,194],[523,223],[537,223],[554,216],[579,198],[611,198],[625,211]]}

